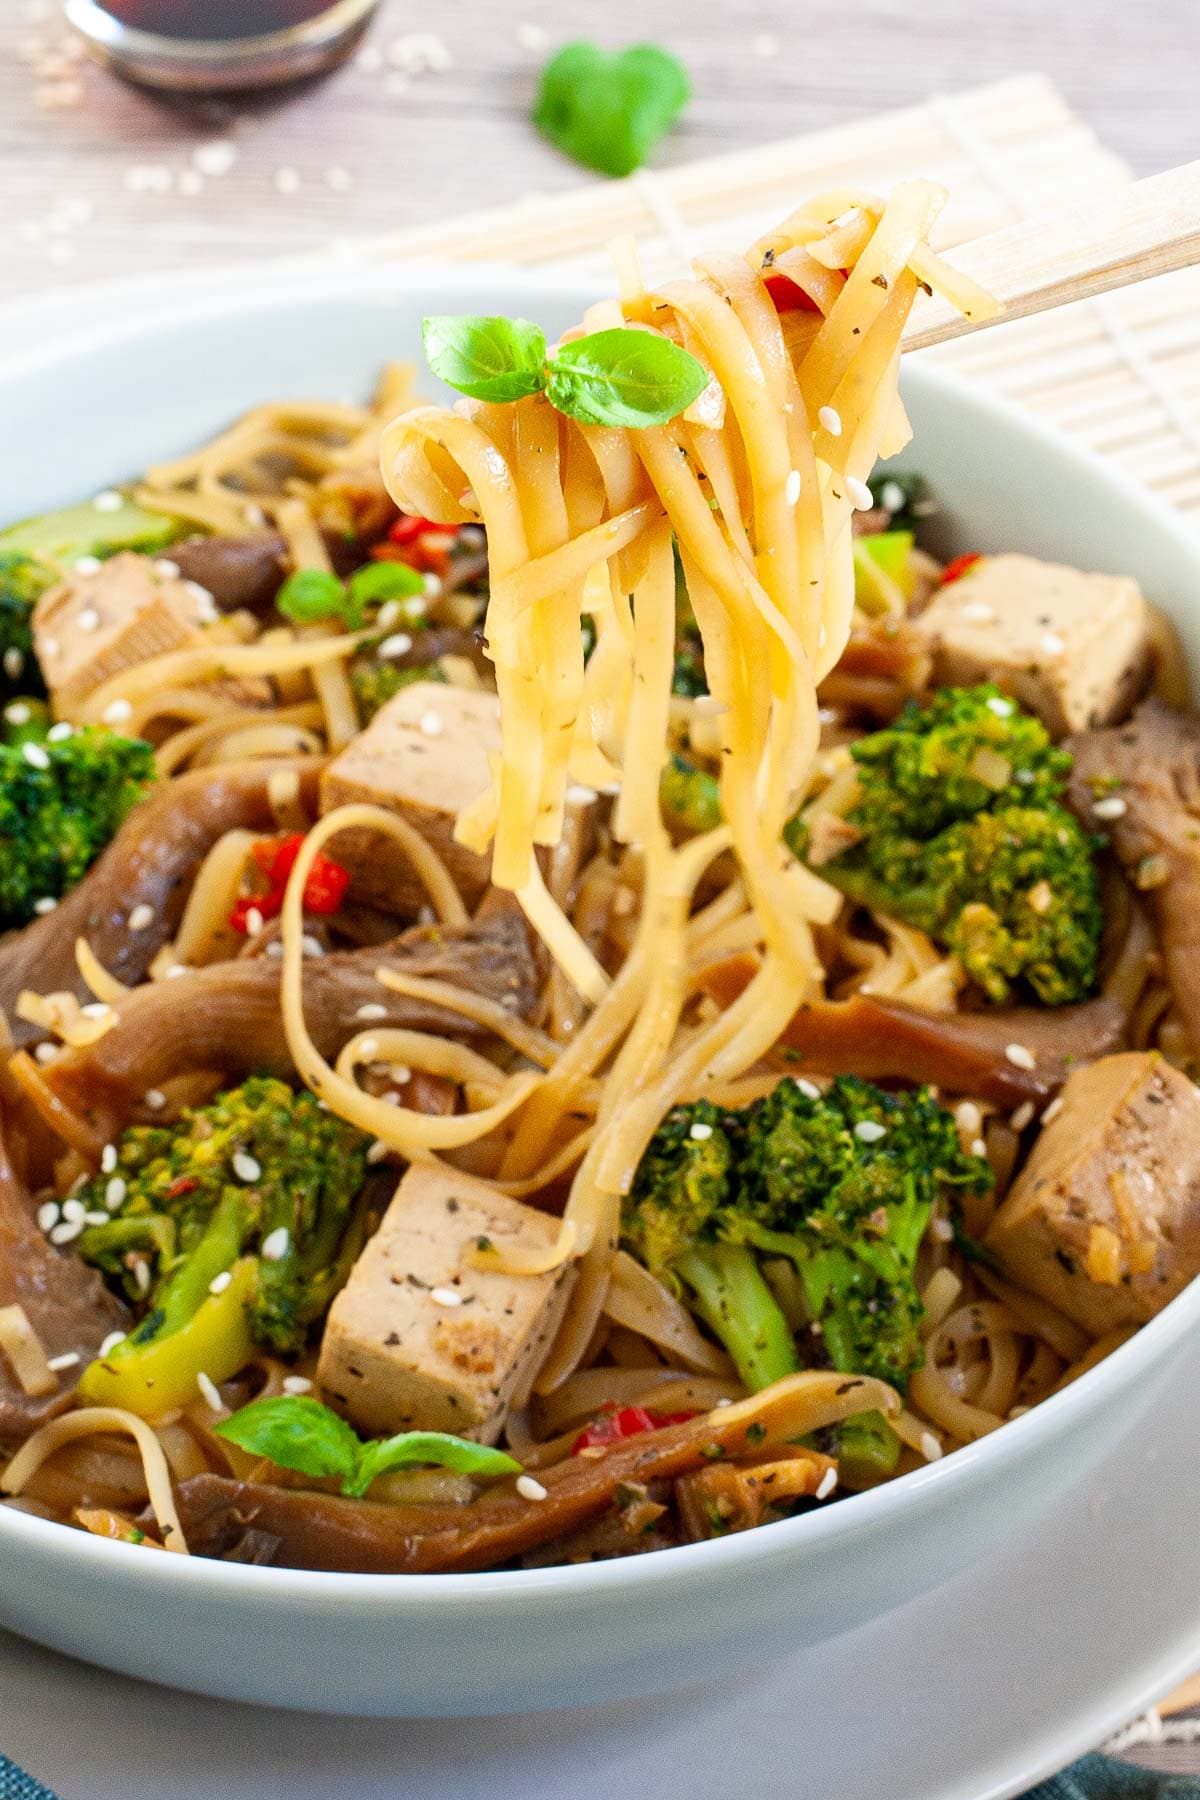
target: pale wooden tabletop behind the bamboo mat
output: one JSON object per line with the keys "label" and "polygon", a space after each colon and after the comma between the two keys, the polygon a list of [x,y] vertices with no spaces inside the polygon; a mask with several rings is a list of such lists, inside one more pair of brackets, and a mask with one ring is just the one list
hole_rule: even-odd
{"label": "pale wooden tabletop behind the bamboo mat", "polygon": [[527,112],[547,49],[588,34],[653,38],[687,63],[694,99],[660,164],[1034,67],[1139,173],[1200,155],[1195,0],[385,0],[351,65],[232,106],[67,61],[52,0],[0,0],[0,297],[306,252],[578,184]]}

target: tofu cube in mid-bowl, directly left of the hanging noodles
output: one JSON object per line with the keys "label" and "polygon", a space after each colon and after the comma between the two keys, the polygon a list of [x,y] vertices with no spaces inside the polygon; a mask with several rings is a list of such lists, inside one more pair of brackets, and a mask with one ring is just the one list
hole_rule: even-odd
{"label": "tofu cube in mid-bowl, directly left of the hanging noodles", "polygon": [[[500,749],[495,693],[419,680],[381,706],[320,778],[320,810],[358,801],[387,806],[439,853],[468,907],[489,880],[488,857],[453,841],[459,812],[486,792],[488,761]],[[394,913],[416,913],[426,893],[399,844],[381,832],[344,832],[336,857],[351,869],[354,895]]]}

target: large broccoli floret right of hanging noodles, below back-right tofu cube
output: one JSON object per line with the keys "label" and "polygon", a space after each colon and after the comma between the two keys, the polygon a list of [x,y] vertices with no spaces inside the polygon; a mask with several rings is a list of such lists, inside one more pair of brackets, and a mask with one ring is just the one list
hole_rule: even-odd
{"label": "large broccoli floret right of hanging noodles, below back-right tofu cube", "polygon": [[[1096,839],[1061,805],[1070,754],[997,688],[946,688],[851,745],[858,841],[822,875],[928,932],[990,1001],[1085,999],[1101,940]],[[788,844],[804,855],[793,819]]]}

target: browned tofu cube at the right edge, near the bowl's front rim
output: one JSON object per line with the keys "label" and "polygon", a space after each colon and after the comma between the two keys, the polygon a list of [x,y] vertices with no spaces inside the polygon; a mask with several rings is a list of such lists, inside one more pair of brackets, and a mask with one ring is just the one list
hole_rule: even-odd
{"label": "browned tofu cube at the right edge, near the bowl's front rim", "polygon": [[1007,1274],[1094,1337],[1200,1274],[1200,1089],[1153,1051],[1076,1069],[988,1231]]}

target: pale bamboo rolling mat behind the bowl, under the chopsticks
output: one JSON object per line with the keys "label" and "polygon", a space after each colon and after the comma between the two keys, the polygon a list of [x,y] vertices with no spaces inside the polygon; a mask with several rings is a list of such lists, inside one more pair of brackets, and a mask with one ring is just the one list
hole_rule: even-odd
{"label": "pale bamboo rolling mat behind the bowl, under the chopsticks", "polygon": [[[628,182],[473,212],[356,243],[372,259],[552,266],[612,286],[606,243],[631,232],[660,279],[750,243],[826,187],[887,191],[927,175],[950,191],[939,245],[1070,203],[1130,169],[1043,76],[1018,76],[849,126]],[[1200,270],[945,344],[932,356],[1018,400],[1200,518]]]}

